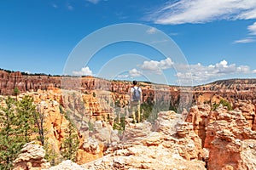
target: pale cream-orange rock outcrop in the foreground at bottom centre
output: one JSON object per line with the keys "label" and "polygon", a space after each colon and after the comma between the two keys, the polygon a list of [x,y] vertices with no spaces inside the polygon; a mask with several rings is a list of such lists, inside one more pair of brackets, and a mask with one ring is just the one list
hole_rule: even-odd
{"label": "pale cream-orange rock outcrop in the foreground at bottom centre", "polygon": [[177,116],[172,111],[160,112],[154,127],[149,122],[128,123],[121,144],[109,147],[106,156],[84,164],[83,167],[206,169],[205,163],[198,161],[201,156],[201,140],[195,135],[192,124],[182,123]]}

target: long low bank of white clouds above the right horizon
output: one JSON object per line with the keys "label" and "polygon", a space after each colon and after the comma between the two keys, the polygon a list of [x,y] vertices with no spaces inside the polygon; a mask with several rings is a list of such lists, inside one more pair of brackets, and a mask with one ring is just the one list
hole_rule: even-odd
{"label": "long low bank of white clouds above the right horizon", "polygon": [[[247,65],[229,65],[226,60],[222,60],[215,65],[205,66],[199,63],[197,65],[177,65],[177,67],[179,67],[178,70],[180,71],[177,72],[176,75],[179,81],[186,82],[189,78],[192,78],[193,82],[196,84],[232,74],[256,73],[256,71],[250,71],[250,67]],[[184,70],[184,72],[182,72],[184,68],[186,68],[186,71]],[[188,72],[188,68],[190,68],[191,72]]]}

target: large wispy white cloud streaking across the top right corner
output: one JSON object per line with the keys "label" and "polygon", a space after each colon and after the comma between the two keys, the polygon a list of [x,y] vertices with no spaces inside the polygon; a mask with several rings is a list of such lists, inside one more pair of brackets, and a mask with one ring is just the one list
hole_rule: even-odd
{"label": "large wispy white cloud streaking across the top right corner", "polygon": [[[173,2],[173,1],[172,1]],[[212,20],[256,19],[254,0],[179,0],[154,11],[149,20],[157,24],[206,23]]]}

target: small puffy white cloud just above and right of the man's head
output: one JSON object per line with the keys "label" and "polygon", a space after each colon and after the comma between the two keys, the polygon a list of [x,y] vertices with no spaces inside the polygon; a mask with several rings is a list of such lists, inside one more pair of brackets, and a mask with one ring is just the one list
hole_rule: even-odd
{"label": "small puffy white cloud just above and right of the man's head", "polygon": [[144,61],[141,68],[147,71],[155,71],[157,74],[160,74],[162,70],[172,68],[173,62],[172,59],[167,58],[160,61],[150,60]]}

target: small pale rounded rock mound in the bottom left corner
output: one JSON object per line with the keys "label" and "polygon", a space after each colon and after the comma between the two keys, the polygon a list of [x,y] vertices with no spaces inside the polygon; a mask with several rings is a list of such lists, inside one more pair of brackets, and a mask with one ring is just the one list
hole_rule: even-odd
{"label": "small pale rounded rock mound in the bottom left corner", "polygon": [[44,159],[43,146],[33,143],[25,144],[20,155],[14,161],[14,170],[34,169],[41,170],[50,167]]}

